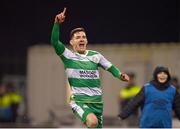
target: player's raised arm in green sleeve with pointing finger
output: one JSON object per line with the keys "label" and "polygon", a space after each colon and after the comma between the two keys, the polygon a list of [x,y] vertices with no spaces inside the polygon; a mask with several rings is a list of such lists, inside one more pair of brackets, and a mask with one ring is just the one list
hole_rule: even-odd
{"label": "player's raised arm in green sleeve with pointing finger", "polygon": [[65,20],[65,12],[66,12],[66,8],[64,8],[63,12],[56,15],[55,21],[54,21],[54,26],[53,26],[52,33],[51,33],[51,44],[54,47],[57,55],[62,55],[62,53],[65,50],[64,44],[61,41],[59,41],[60,25]]}

